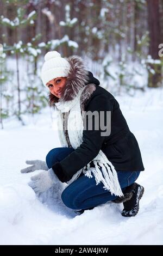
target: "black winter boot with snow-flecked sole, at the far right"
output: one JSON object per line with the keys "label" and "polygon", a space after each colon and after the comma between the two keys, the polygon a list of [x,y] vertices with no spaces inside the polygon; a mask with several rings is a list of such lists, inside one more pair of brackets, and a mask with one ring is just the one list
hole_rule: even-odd
{"label": "black winter boot with snow-flecked sole, at the far right", "polygon": [[122,216],[133,217],[137,214],[137,212],[139,211],[139,201],[142,198],[144,191],[145,189],[143,188],[143,186],[140,186],[136,182],[133,184],[133,196],[130,200],[127,200],[123,203],[124,209],[121,212]]}

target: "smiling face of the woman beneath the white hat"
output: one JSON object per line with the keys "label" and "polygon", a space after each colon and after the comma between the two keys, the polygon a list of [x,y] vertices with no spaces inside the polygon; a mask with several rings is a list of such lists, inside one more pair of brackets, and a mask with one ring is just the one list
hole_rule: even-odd
{"label": "smiling face of the woman beneath the white hat", "polygon": [[56,97],[61,97],[61,91],[66,85],[66,77],[57,77],[46,83],[49,91]]}

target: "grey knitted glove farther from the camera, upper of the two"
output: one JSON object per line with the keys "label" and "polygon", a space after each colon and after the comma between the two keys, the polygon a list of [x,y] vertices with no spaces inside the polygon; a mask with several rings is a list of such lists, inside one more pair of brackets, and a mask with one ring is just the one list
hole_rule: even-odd
{"label": "grey knitted glove farther from the camera, upper of the two", "polygon": [[21,173],[30,173],[34,172],[35,170],[48,170],[48,166],[45,161],[41,160],[27,160],[27,164],[33,164],[33,166],[26,167],[21,169]]}

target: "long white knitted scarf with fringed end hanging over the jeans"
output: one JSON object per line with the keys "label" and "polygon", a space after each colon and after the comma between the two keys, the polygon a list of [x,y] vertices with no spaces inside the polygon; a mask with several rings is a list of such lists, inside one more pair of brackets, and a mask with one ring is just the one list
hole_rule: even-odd
{"label": "long white knitted scarf with fringed end hanging over the jeans", "polygon": [[[58,111],[58,132],[59,132],[59,139],[62,147],[68,147],[65,133],[63,130],[63,114],[70,111],[68,115],[67,121],[67,130],[68,130],[68,137],[70,139],[70,143],[74,149],[80,146],[83,142],[83,117],[80,108],[80,96],[83,92],[84,88],[80,89],[78,95],[74,97],[71,101],[58,101],[55,103]],[[102,182],[104,185],[105,190],[109,190],[111,194],[115,194],[116,196],[123,196],[117,172],[112,166],[112,163],[107,159],[106,155],[103,153],[102,150],[99,150],[98,155],[92,160],[95,164],[95,168],[90,168],[90,163],[88,163],[85,167],[78,170],[76,174],[73,175],[72,179],[67,182],[70,185],[74,180],[76,180],[80,173],[84,173],[85,176],[92,178],[91,173],[94,174],[96,185],[99,182]],[[99,166],[102,168],[99,169]],[[87,168],[87,170],[86,170]],[[103,175],[104,176],[103,176]]]}

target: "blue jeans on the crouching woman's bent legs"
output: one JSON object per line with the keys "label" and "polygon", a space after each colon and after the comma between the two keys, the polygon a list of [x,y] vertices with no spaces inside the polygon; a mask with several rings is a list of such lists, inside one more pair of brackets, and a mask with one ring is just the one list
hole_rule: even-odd
{"label": "blue jeans on the crouching woman's bent legs", "polygon": [[[52,168],[55,162],[60,162],[67,155],[71,154],[73,150],[73,148],[54,148],[49,151],[46,156],[48,168]],[[140,171],[117,170],[122,191],[124,191],[124,188],[133,184],[139,174]],[[102,182],[96,185],[95,177],[93,174],[92,176],[92,178],[88,178],[82,173],[77,180],[73,181],[62,191],[62,202],[68,208],[76,210],[89,209],[117,198],[114,194],[111,195],[108,190],[104,190]]]}

